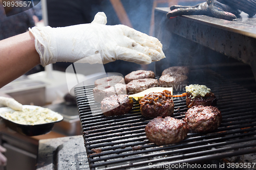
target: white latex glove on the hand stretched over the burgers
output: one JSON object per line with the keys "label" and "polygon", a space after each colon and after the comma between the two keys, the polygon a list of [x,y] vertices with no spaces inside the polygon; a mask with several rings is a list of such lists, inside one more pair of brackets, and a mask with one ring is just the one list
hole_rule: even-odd
{"label": "white latex glove on the hand stretched over the burgers", "polygon": [[157,38],[124,25],[105,24],[105,14],[98,12],[92,23],[62,28],[33,27],[29,31],[35,37],[42,66],[80,59],[91,64],[115,60],[150,64],[165,58]]}

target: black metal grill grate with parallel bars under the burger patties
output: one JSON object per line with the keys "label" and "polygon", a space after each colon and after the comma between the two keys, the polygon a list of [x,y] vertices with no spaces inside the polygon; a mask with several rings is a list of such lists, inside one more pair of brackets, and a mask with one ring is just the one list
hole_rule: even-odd
{"label": "black metal grill grate with parallel bars under the burger patties", "polygon": [[[134,102],[130,114],[105,117],[93,99],[94,86],[77,87],[77,105],[91,169],[152,169],[154,165],[201,162],[256,152],[256,96],[211,70],[190,71],[190,84],[204,84],[216,94],[221,126],[210,133],[189,133],[176,144],[157,146],[146,139],[150,121]],[[86,95],[84,93],[86,92]],[[175,118],[186,112],[185,98],[174,98]]]}

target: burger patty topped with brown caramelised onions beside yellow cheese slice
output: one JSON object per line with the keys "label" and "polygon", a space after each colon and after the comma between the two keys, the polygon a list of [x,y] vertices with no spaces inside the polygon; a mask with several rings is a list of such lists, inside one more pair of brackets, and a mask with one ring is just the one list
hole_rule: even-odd
{"label": "burger patty topped with brown caramelised onions beside yellow cheese slice", "polygon": [[140,112],[145,117],[166,117],[174,113],[173,95],[170,91],[152,92],[140,100]]}

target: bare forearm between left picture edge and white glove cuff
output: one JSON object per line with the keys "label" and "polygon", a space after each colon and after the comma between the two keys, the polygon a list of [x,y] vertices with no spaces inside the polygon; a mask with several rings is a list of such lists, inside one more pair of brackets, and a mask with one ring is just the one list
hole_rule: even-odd
{"label": "bare forearm between left picture edge and white glove cuff", "polygon": [[29,32],[0,41],[0,88],[37,64],[40,58]]}

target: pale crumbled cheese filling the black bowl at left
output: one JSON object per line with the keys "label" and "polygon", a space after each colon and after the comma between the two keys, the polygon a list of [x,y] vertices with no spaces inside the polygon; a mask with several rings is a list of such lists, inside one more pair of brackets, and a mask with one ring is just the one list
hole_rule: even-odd
{"label": "pale crumbled cheese filling the black bowl at left", "polygon": [[37,106],[25,107],[22,111],[13,111],[12,109],[7,110],[5,112],[1,112],[1,116],[14,123],[22,125],[52,123],[63,118],[60,114],[53,112],[48,108]]}

